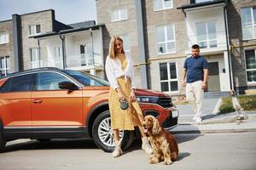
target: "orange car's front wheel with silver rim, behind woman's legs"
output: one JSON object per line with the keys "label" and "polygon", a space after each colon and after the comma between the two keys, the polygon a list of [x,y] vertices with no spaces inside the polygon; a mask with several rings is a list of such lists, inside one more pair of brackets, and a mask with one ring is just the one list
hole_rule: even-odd
{"label": "orange car's front wheel with silver rim, behind woman's legs", "polygon": [[[131,131],[121,131],[119,135],[121,139],[121,148],[128,148],[132,139]],[[114,140],[113,130],[110,126],[109,111],[104,111],[96,117],[92,126],[92,137],[99,148],[106,152],[112,152],[114,149]]]}

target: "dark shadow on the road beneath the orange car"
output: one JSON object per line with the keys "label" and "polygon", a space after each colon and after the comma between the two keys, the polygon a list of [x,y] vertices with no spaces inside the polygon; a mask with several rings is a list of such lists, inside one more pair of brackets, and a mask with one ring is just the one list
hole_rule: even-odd
{"label": "dark shadow on the road beneath the orange car", "polygon": [[98,149],[92,139],[52,139],[48,142],[39,142],[38,140],[28,140],[15,143],[11,141],[7,144],[4,152],[17,150],[62,150],[62,149]]}

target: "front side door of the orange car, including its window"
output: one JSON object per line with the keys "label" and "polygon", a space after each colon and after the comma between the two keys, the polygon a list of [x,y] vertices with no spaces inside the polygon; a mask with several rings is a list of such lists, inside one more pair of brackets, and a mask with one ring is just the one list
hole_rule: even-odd
{"label": "front side door of the orange car, including its window", "polygon": [[82,127],[82,89],[72,92],[61,89],[58,83],[63,81],[73,82],[56,72],[37,74],[35,91],[32,92],[34,138],[49,133],[49,127],[55,131],[56,136],[67,131],[79,131]]}

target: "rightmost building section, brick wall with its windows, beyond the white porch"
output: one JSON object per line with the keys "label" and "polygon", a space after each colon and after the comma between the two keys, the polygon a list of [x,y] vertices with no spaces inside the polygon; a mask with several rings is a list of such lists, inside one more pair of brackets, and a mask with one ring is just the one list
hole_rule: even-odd
{"label": "rightmost building section, brick wall with its windows, beyond the white porch", "polygon": [[234,88],[256,88],[256,2],[232,0],[227,6]]}

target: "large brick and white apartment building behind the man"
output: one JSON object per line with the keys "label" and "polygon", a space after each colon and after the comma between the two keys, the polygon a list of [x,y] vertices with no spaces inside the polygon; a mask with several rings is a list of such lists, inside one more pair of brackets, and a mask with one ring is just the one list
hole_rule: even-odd
{"label": "large brick and white apartment building behind the man", "polygon": [[[183,62],[195,43],[209,63],[207,92],[236,90],[243,94],[245,89],[255,88],[253,37],[247,37],[247,42],[242,37],[242,32],[254,33],[253,5],[253,1],[225,0],[96,0],[97,20],[105,23],[108,32],[103,36],[104,51],[108,51],[111,35],[125,35],[125,47],[130,47],[135,61],[138,87],[172,95],[184,94],[180,85]],[[252,19],[247,19],[248,8]],[[239,29],[243,13],[251,30]],[[237,48],[241,48],[239,54]],[[245,65],[246,61],[250,63]],[[141,77],[147,77],[146,81]]]}

